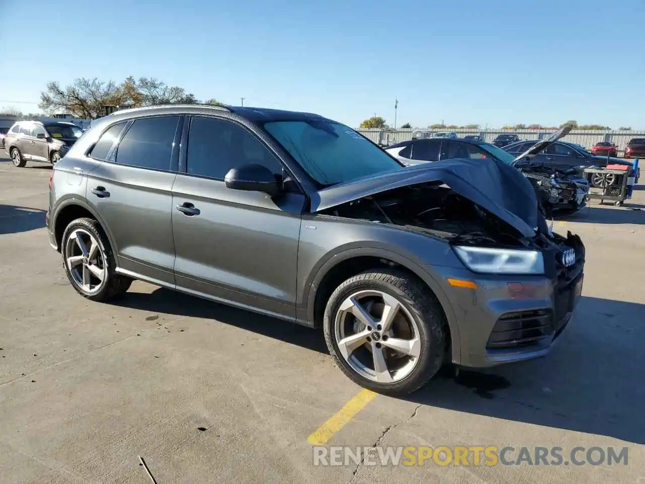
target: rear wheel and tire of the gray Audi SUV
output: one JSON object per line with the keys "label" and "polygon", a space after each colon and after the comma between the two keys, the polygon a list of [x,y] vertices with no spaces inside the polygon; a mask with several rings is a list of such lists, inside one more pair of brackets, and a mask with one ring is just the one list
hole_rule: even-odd
{"label": "rear wheel and tire of the gray Audi SUV", "polygon": [[132,284],[130,277],[115,272],[112,247],[94,219],[75,219],[65,228],[61,254],[70,283],[76,292],[92,301],[120,296]]}

